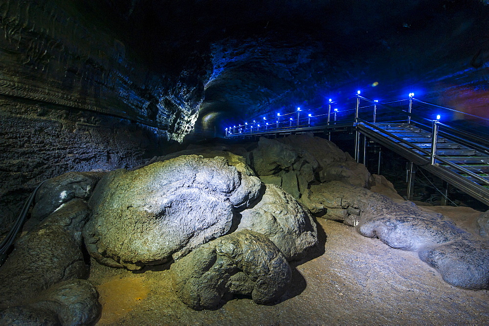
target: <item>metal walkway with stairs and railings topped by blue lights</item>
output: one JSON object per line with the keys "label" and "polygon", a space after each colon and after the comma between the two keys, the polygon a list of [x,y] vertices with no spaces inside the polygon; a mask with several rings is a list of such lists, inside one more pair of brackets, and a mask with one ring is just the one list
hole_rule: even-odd
{"label": "metal walkway with stairs and railings topped by blue lights", "polygon": [[[328,105],[328,113],[314,115],[318,108],[277,115],[274,123],[255,121],[226,130],[227,138],[281,137],[305,132],[323,133],[355,130],[355,158],[366,162],[367,139],[396,152],[409,161],[407,197],[413,198],[414,176],[422,168],[489,205],[489,119],[414,99],[378,103],[356,96],[356,107],[341,112]],[[365,106],[360,104],[366,103]],[[323,108],[324,109],[324,108]],[[309,111],[307,117],[300,117]],[[440,122],[441,115],[451,125]],[[455,120],[454,116],[458,117]],[[462,119],[461,119],[462,117]],[[466,119],[464,119],[466,118]],[[468,119],[467,119],[468,118]],[[445,120],[444,119],[444,120]],[[463,122],[457,125],[457,121]],[[254,128],[254,130],[253,130]],[[363,153],[363,155],[361,155]],[[446,204],[448,187],[444,189]]]}

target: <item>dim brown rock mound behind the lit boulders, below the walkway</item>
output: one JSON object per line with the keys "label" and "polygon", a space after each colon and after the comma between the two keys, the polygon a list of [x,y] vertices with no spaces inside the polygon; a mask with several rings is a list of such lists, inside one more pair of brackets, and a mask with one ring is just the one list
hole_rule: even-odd
{"label": "dim brown rock mound behind the lit boulders, below the walkway", "polygon": [[251,151],[250,161],[264,183],[281,186],[301,200],[313,185],[324,182],[337,180],[360,187],[373,183],[363,164],[312,133],[278,139],[262,137]]}

